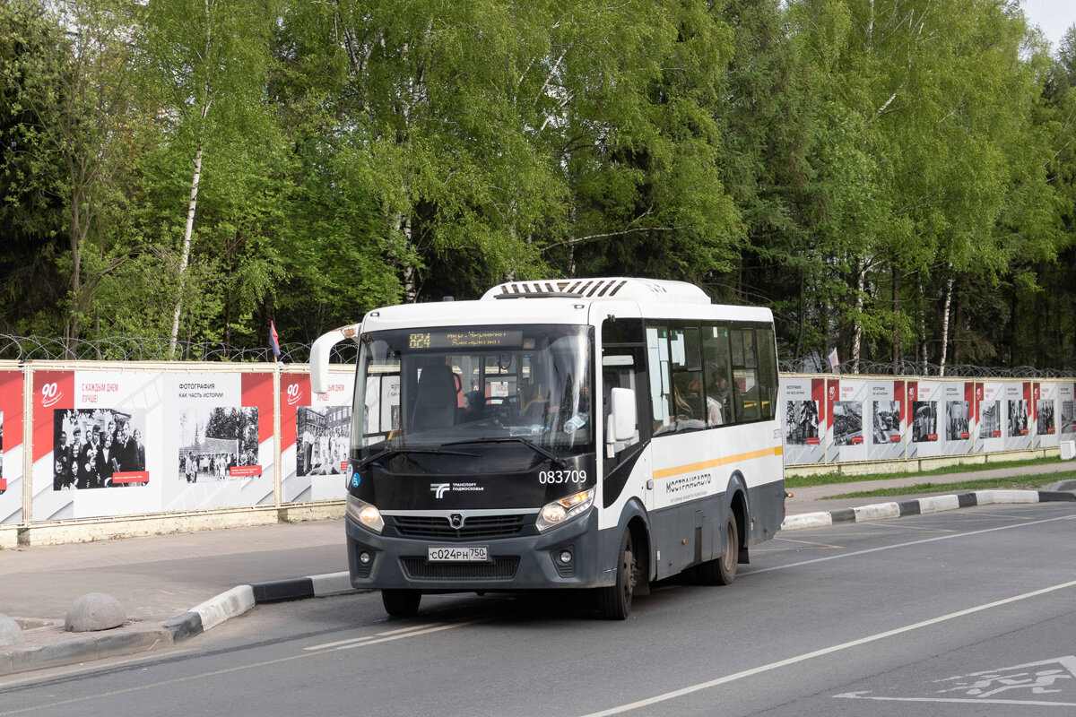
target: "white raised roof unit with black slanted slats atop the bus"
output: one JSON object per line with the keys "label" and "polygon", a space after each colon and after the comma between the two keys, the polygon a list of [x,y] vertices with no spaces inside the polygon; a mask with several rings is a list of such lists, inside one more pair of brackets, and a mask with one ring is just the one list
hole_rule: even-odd
{"label": "white raised roof unit with black slanted slats atop the bus", "polygon": [[708,304],[710,298],[685,282],[653,278],[570,278],[536,282],[506,282],[493,287],[482,299],[568,298],[638,302]]}

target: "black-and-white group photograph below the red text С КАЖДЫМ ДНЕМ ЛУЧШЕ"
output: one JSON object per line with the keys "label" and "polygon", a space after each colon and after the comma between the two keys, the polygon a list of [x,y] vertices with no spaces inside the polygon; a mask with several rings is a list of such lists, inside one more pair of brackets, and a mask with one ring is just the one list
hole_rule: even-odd
{"label": "black-and-white group photograph below the red text \u0421 \u041a\u0410\u0416\u0414\u042b\u041c \u0414\u041d\u0415\u041c \u041b\u0423\u0427\u0428\u0415", "polygon": [[[53,411],[53,490],[122,488],[146,482],[143,412]],[[133,476],[124,476],[134,473]],[[118,474],[118,475],[117,475]]]}

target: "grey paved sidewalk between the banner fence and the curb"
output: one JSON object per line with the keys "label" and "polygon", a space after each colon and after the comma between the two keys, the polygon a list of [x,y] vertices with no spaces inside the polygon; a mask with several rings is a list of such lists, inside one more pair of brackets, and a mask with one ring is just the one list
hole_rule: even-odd
{"label": "grey paved sidewalk between the banner fence and the curb", "polygon": [[[855,490],[1071,470],[1076,463],[793,488],[785,507],[789,516],[807,517],[922,496],[825,500]],[[20,621],[25,636],[0,645],[0,677],[168,646],[255,602],[346,590],[346,570],[342,518],[0,550],[0,614]],[[323,579],[312,588],[297,579],[309,576]],[[128,623],[63,632],[68,608],[90,592],[118,600]]]}

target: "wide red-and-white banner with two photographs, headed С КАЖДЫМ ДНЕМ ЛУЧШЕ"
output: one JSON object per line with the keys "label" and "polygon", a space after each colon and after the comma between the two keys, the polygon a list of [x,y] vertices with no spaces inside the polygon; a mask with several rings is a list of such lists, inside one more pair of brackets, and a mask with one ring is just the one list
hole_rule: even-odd
{"label": "wide red-and-white banner with two photographs, headed \u0421 \u041a\u0410\u0416\u0414\u042b\u041c \u0414\u041d\u0415\u041c \u041b\u0423\u0427\u0428\u0415", "polygon": [[272,373],[33,374],[33,520],[273,501]]}

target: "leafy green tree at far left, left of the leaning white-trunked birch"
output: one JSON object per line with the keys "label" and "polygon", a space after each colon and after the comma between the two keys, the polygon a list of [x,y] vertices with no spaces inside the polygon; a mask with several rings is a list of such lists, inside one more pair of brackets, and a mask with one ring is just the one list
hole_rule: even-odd
{"label": "leafy green tree at far left, left of the leaning white-trunked birch", "polygon": [[[15,0],[4,14],[20,52],[5,63],[9,92],[17,97],[23,121],[19,167],[9,197],[51,198],[62,206],[63,252],[56,252],[57,273],[66,277],[61,302],[62,335],[69,352],[83,331],[93,291],[110,261],[86,266],[87,257],[107,257],[98,241],[99,219],[123,193],[124,149],[138,131],[130,83],[129,5],[123,0],[90,0],[42,5]],[[62,33],[60,32],[62,28]],[[14,37],[14,35],[9,35]],[[57,247],[58,249],[59,247]]]}

